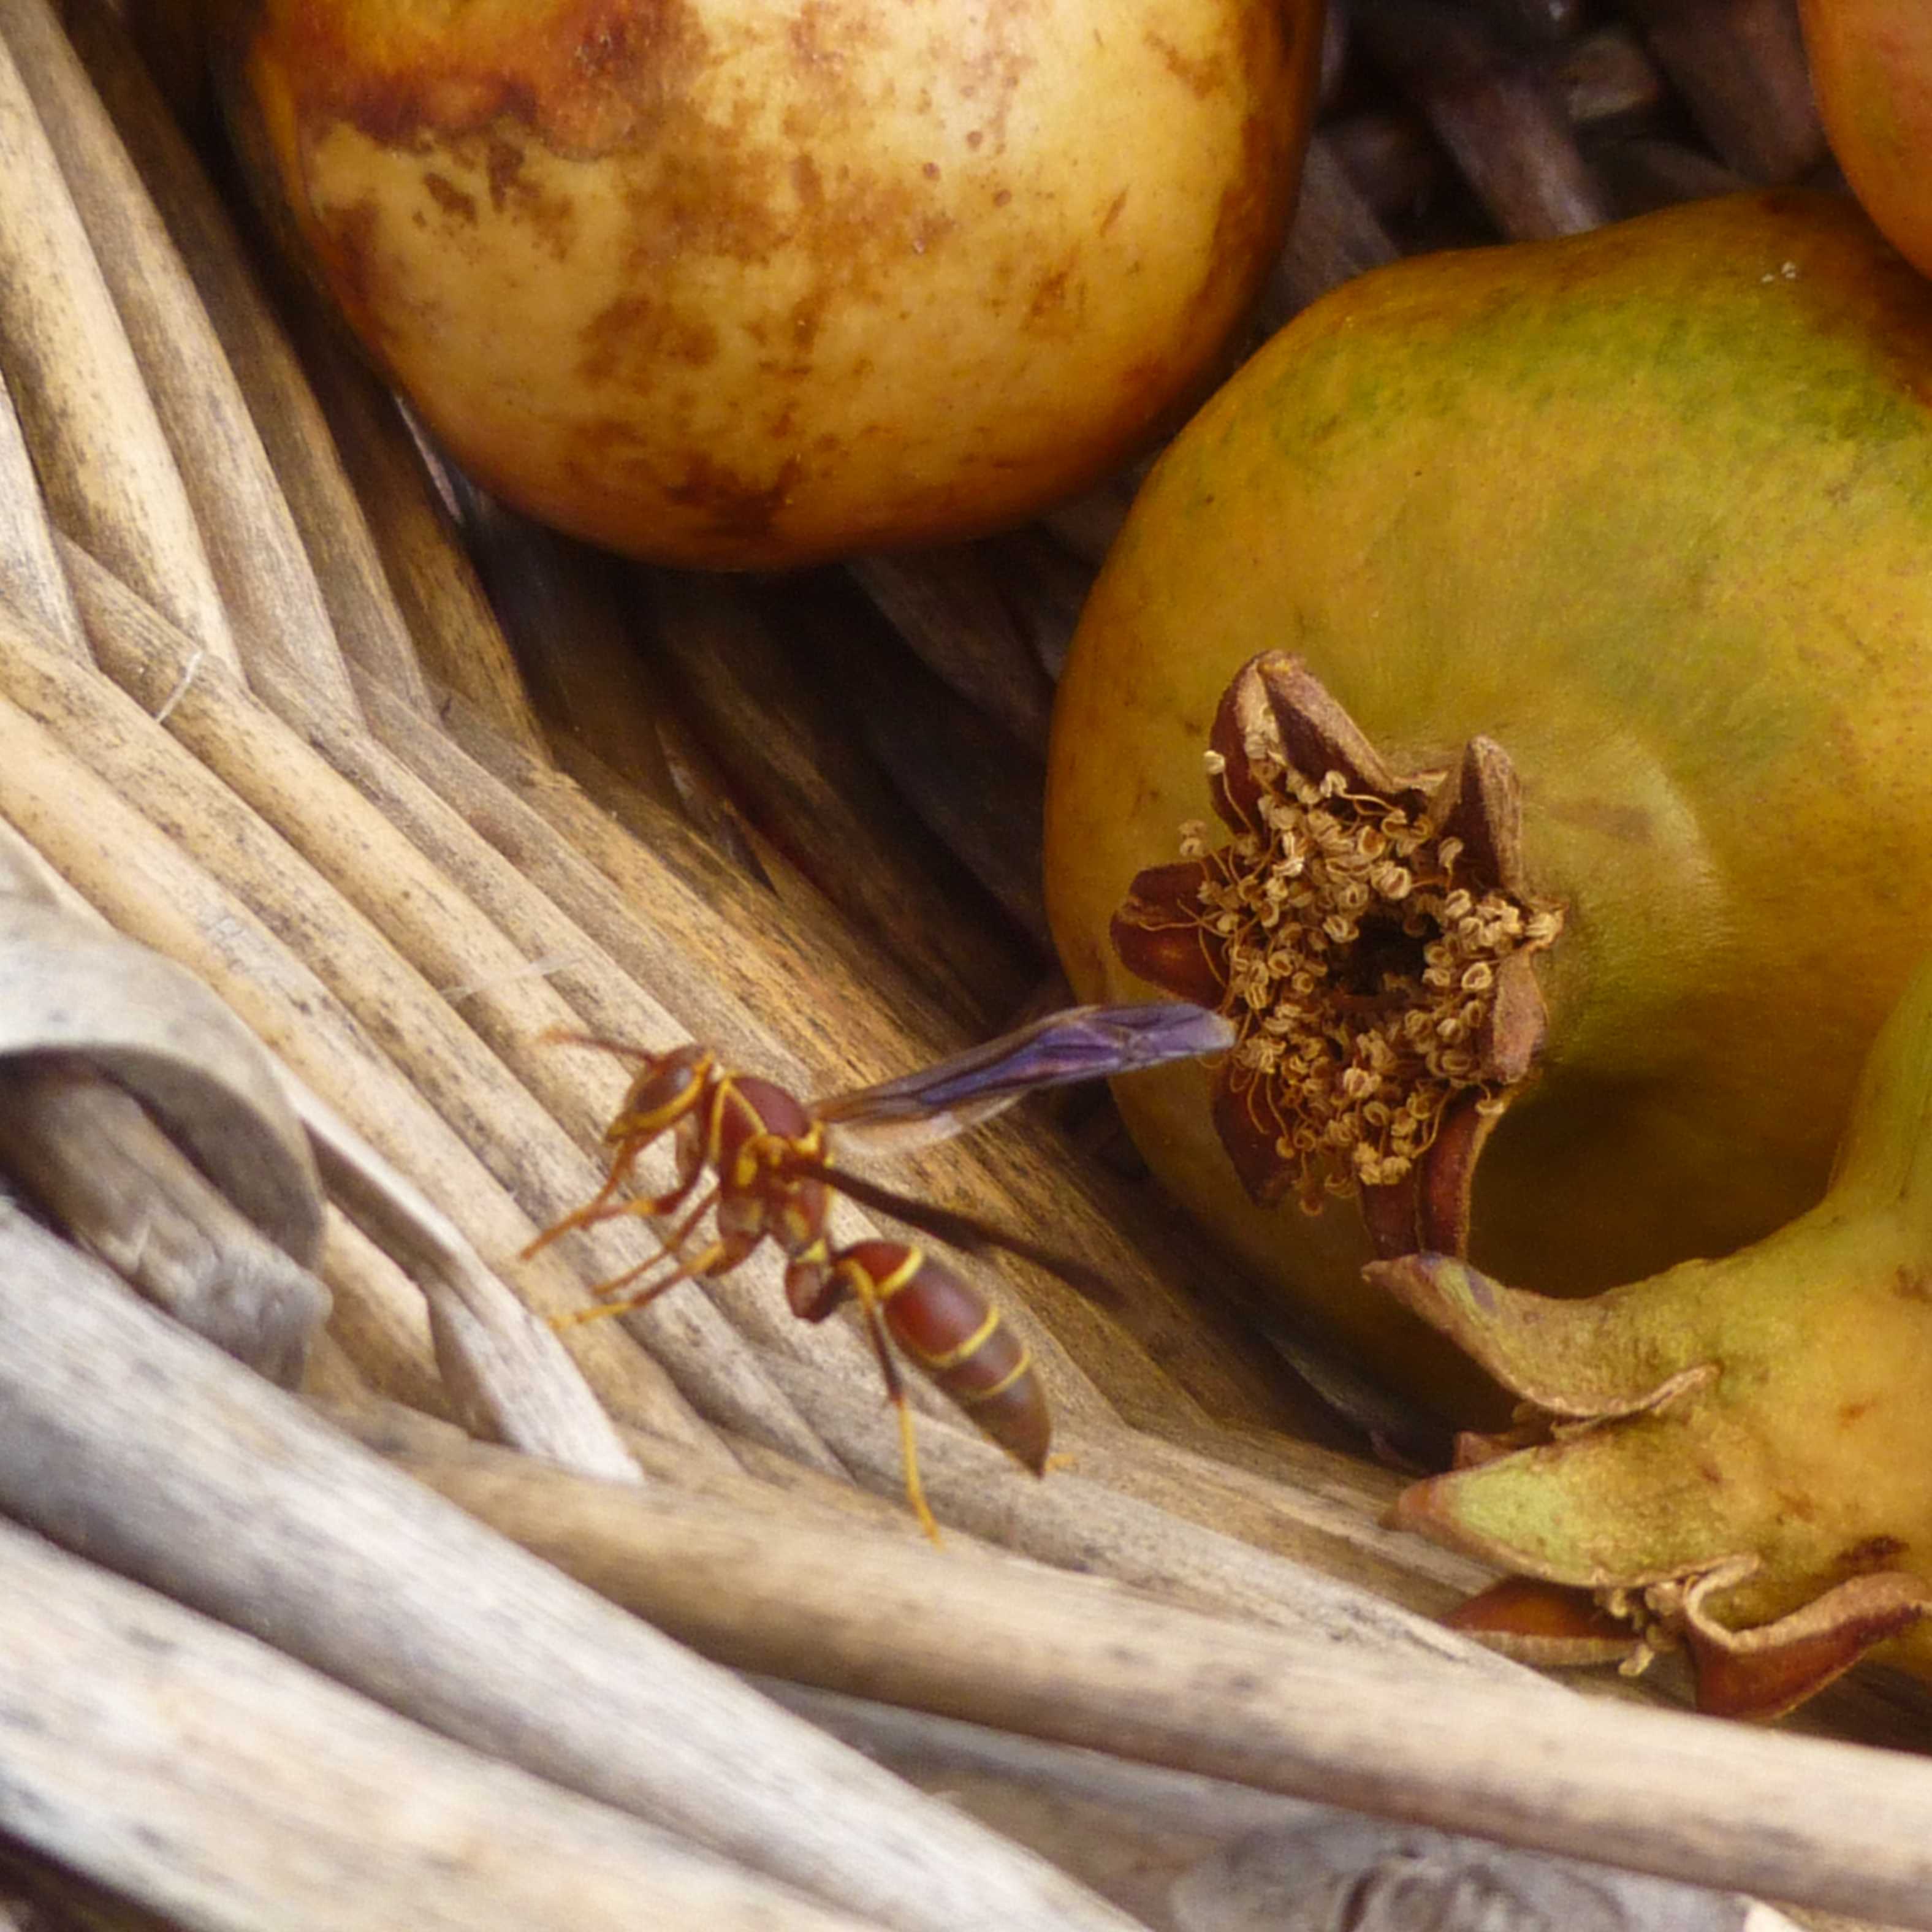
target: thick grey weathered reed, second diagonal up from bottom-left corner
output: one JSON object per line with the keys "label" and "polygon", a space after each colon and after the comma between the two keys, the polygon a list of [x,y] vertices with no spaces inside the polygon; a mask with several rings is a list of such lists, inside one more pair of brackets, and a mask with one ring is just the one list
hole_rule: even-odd
{"label": "thick grey weathered reed, second diagonal up from bottom-left corner", "polygon": [[19,1215],[0,1217],[0,1507],[446,1737],[904,1932],[1126,1932]]}

